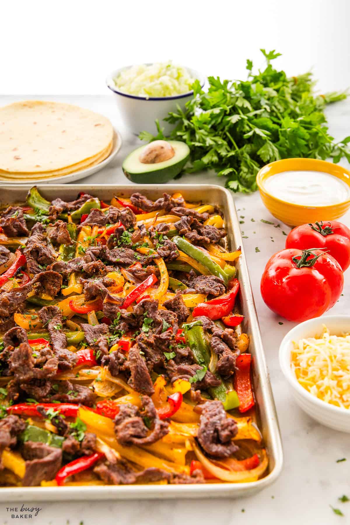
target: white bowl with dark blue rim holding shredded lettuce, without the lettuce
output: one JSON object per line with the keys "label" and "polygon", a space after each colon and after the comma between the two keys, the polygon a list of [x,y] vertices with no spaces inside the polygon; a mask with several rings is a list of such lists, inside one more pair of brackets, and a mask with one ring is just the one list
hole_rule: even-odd
{"label": "white bowl with dark blue rim holding shredded lettuce, without the lettuce", "polygon": [[[176,106],[185,109],[186,102],[193,97],[193,90],[183,93],[183,95],[174,95],[173,97],[150,98],[136,97],[135,95],[129,95],[129,93],[123,93],[116,88],[113,79],[118,77],[121,71],[130,67],[132,66],[115,69],[106,79],[107,86],[113,92],[114,100],[118,105],[126,127],[135,135],[139,135],[141,131],[149,131],[152,134],[156,134],[154,121],[158,119],[161,128],[164,128],[164,134],[169,135],[174,125],[165,122],[163,119],[168,116],[169,111],[176,111]],[[199,80],[203,88],[205,77],[194,69],[186,69],[193,78]]]}

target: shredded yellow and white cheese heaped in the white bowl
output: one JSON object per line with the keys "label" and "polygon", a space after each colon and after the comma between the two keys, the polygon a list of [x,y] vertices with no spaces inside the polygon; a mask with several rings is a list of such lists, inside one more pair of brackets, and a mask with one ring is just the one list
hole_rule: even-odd
{"label": "shredded yellow and white cheese heaped in the white bowl", "polygon": [[320,338],[293,344],[291,367],[305,390],[326,403],[350,408],[350,334],[330,335],[324,326]]}

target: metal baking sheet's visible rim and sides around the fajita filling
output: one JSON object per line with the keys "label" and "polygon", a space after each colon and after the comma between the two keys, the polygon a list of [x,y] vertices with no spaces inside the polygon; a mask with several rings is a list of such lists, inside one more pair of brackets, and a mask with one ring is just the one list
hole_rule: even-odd
{"label": "metal baking sheet's visible rim and sides around the fajita filling", "polygon": [[[14,202],[23,202],[31,185],[1,185],[1,207]],[[225,214],[228,248],[242,246],[237,212],[232,194],[216,185],[171,184],[171,185],[112,185],[112,184],[49,184],[38,185],[40,193],[48,200],[61,197],[66,201],[76,198],[84,191],[108,200],[113,195],[130,197],[136,191],[155,200],[163,192],[181,192],[187,201],[201,201],[218,205]],[[270,486],[280,475],[283,463],[281,436],[272,397],[269,375],[264,356],[260,328],[244,251],[238,259],[237,277],[240,281],[240,307],[245,316],[243,331],[249,334],[249,351],[253,356],[252,381],[257,401],[257,418],[264,444],[269,455],[268,474],[251,483],[208,485],[122,485],[88,487],[5,487],[0,488],[0,501],[44,501],[87,499],[164,499],[164,498],[238,498],[249,496]]]}

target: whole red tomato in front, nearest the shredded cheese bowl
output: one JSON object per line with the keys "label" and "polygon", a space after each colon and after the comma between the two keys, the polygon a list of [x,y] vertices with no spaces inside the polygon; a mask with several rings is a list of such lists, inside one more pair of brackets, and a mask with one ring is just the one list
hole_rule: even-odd
{"label": "whole red tomato in front, nearest the shredded cheese bowl", "polygon": [[343,271],[334,257],[321,250],[290,248],[269,259],[260,290],[273,312],[301,322],[332,308],[343,285]]}

